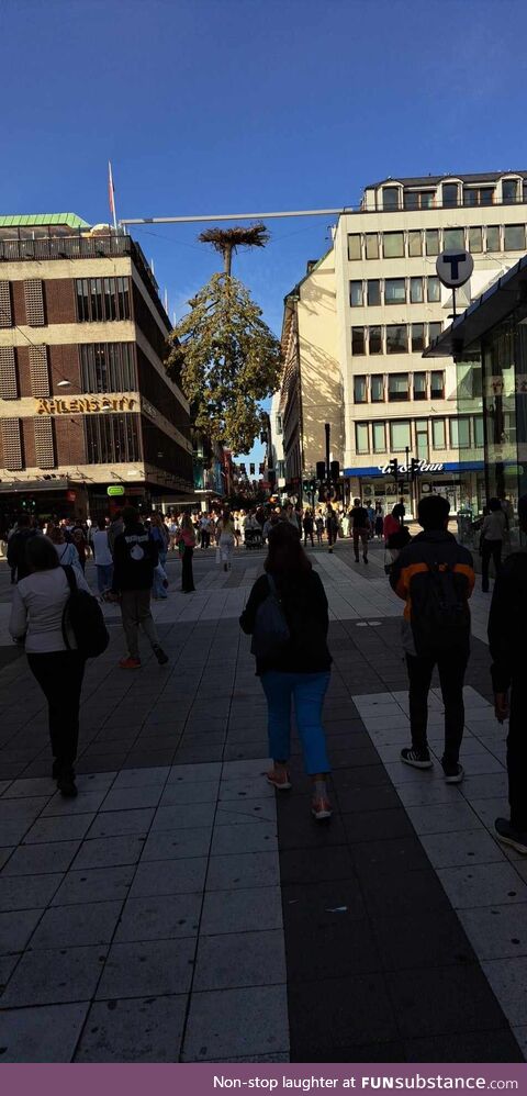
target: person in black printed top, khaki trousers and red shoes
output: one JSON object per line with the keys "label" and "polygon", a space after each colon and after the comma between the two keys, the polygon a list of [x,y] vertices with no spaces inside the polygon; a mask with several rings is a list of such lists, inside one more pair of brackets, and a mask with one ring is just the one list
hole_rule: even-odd
{"label": "person in black printed top, khaki trousers and red shoes", "polygon": [[136,670],[141,667],[141,626],[159,666],[165,666],[168,656],[159,644],[150,608],[154,570],[158,564],[157,547],[134,506],[124,507],[123,526],[123,532],[117,534],[113,545],[112,595],[121,600],[128,653],[119,664],[122,670]]}

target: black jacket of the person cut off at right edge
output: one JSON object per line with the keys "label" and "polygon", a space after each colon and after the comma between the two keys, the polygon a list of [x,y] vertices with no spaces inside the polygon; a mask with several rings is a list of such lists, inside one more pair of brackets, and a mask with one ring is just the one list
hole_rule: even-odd
{"label": "black jacket of the person cut off at right edge", "polygon": [[517,551],[501,568],[494,583],[489,617],[491,673],[495,693],[505,693],[511,683],[525,681],[526,614],[527,552]]}

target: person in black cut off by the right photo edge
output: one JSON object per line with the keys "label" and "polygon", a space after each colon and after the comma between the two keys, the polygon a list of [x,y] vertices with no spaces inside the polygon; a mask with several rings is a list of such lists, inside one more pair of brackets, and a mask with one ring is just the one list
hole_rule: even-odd
{"label": "person in black cut off by the right photo edge", "polygon": [[[527,495],[518,502],[519,527],[527,534]],[[527,550],[505,560],[494,583],[489,645],[492,686],[498,723],[508,718],[507,775],[509,818],[496,818],[494,829],[503,845],[527,854],[527,704],[526,630]]]}

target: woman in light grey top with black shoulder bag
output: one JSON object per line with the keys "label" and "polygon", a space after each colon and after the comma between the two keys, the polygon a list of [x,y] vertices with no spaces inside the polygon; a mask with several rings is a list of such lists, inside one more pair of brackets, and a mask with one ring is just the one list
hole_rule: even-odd
{"label": "woman in light grey top with black shoulder bag", "polygon": [[[55,545],[48,537],[33,537],[27,543],[26,558],[29,573],[13,591],[9,630],[13,639],[25,642],[30,670],[47,701],[52,776],[63,795],[75,796],[85,658],[67,624],[66,635],[63,631],[70,589]],[[90,593],[81,571],[76,571],[75,578],[77,588]]]}

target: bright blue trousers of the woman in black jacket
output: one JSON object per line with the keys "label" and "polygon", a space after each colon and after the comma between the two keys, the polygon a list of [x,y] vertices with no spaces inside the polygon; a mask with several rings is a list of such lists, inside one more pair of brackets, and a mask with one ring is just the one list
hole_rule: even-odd
{"label": "bright blue trousers of the woman in black jacket", "polygon": [[329,684],[329,670],[322,673],[261,674],[267,697],[269,753],[274,761],[288,761],[291,752],[291,697],[294,697],[305,771],[310,775],[329,772],[322,706]]}

